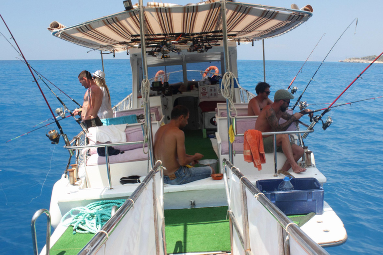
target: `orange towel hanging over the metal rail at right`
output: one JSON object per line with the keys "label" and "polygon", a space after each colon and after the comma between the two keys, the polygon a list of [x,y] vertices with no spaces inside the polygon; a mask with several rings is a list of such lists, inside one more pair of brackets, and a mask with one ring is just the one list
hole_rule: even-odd
{"label": "orange towel hanging over the metal rail at right", "polygon": [[243,140],[243,158],[246,162],[253,162],[254,167],[262,170],[266,163],[265,150],[263,148],[262,132],[255,129],[246,130]]}

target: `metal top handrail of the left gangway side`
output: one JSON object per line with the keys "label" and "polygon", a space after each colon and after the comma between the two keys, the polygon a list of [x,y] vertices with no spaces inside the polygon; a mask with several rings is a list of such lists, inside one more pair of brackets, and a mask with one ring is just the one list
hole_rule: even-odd
{"label": "metal top handrail of the left gangway side", "polygon": [[[94,235],[94,237],[89,241],[89,243],[78,253],[79,255],[97,254],[100,248],[108,240],[109,235],[116,229],[121,220],[126,216],[129,210],[133,207],[133,204],[140,197],[141,193],[145,190],[146,183],[149,183],[150,179],[152,178],[153,181],[155,181],[154,174],[158,171],[160,171],[161,176],[163,175],[161,164],[161,161],[157,161],[157,163],[155,164],[153,169],[149,171],[145,179],[139,184],[139,186],[132,193],[132,195],[129,196],[129,199],[127,199],[124,202],[124,204],[120,207],[120,209],[118,209],[115,215],[113,215],[110,218],[110,220],[104,225],[104,227],[102,227],[101,230],[97,232],[96,235]],[[158,224],[155,224],[155,228],[156,227],[158,227]]]}

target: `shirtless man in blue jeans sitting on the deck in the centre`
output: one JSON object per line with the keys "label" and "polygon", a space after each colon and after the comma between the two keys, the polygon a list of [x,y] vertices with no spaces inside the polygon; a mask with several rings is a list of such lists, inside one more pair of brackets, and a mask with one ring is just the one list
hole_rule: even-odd
{"label": "shirtless man in blue jeans sitting on the deck in the centre", "polygon": [[188,167],[203,157],[200,153],[186,154],[185,133],[182,130],[188,125],[189,110],[185,106],[176,106],[172,110],[169,124],[160,127],[155,135],[154,156],[161,160],[164,169],[164,183],[179,185],[210,177],[213,169],[210,166]]}

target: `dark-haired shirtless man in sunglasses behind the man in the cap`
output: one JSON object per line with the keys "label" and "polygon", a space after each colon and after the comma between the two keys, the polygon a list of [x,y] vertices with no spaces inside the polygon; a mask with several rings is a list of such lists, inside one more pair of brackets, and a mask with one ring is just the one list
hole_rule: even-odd
{"label": "dark-haired shirtless man in sunglasses behind the man in the cap", "polygon": [[273,103],[273,101],[269,99],[270,85],[268,83],[258,82],[255,87],[255,92],[257,93],[257,96],[249,101],[247,106],[247,116],[259,116],[265,106]]}

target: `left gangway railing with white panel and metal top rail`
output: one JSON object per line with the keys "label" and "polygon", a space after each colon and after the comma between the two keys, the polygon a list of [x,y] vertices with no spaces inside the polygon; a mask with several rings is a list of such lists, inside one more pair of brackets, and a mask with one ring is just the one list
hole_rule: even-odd
{"label": "left gangway railing with white panel and metal top rail", "polygon": [[137,189],[79,255],[166,255],[163,172],[157,161]]}

